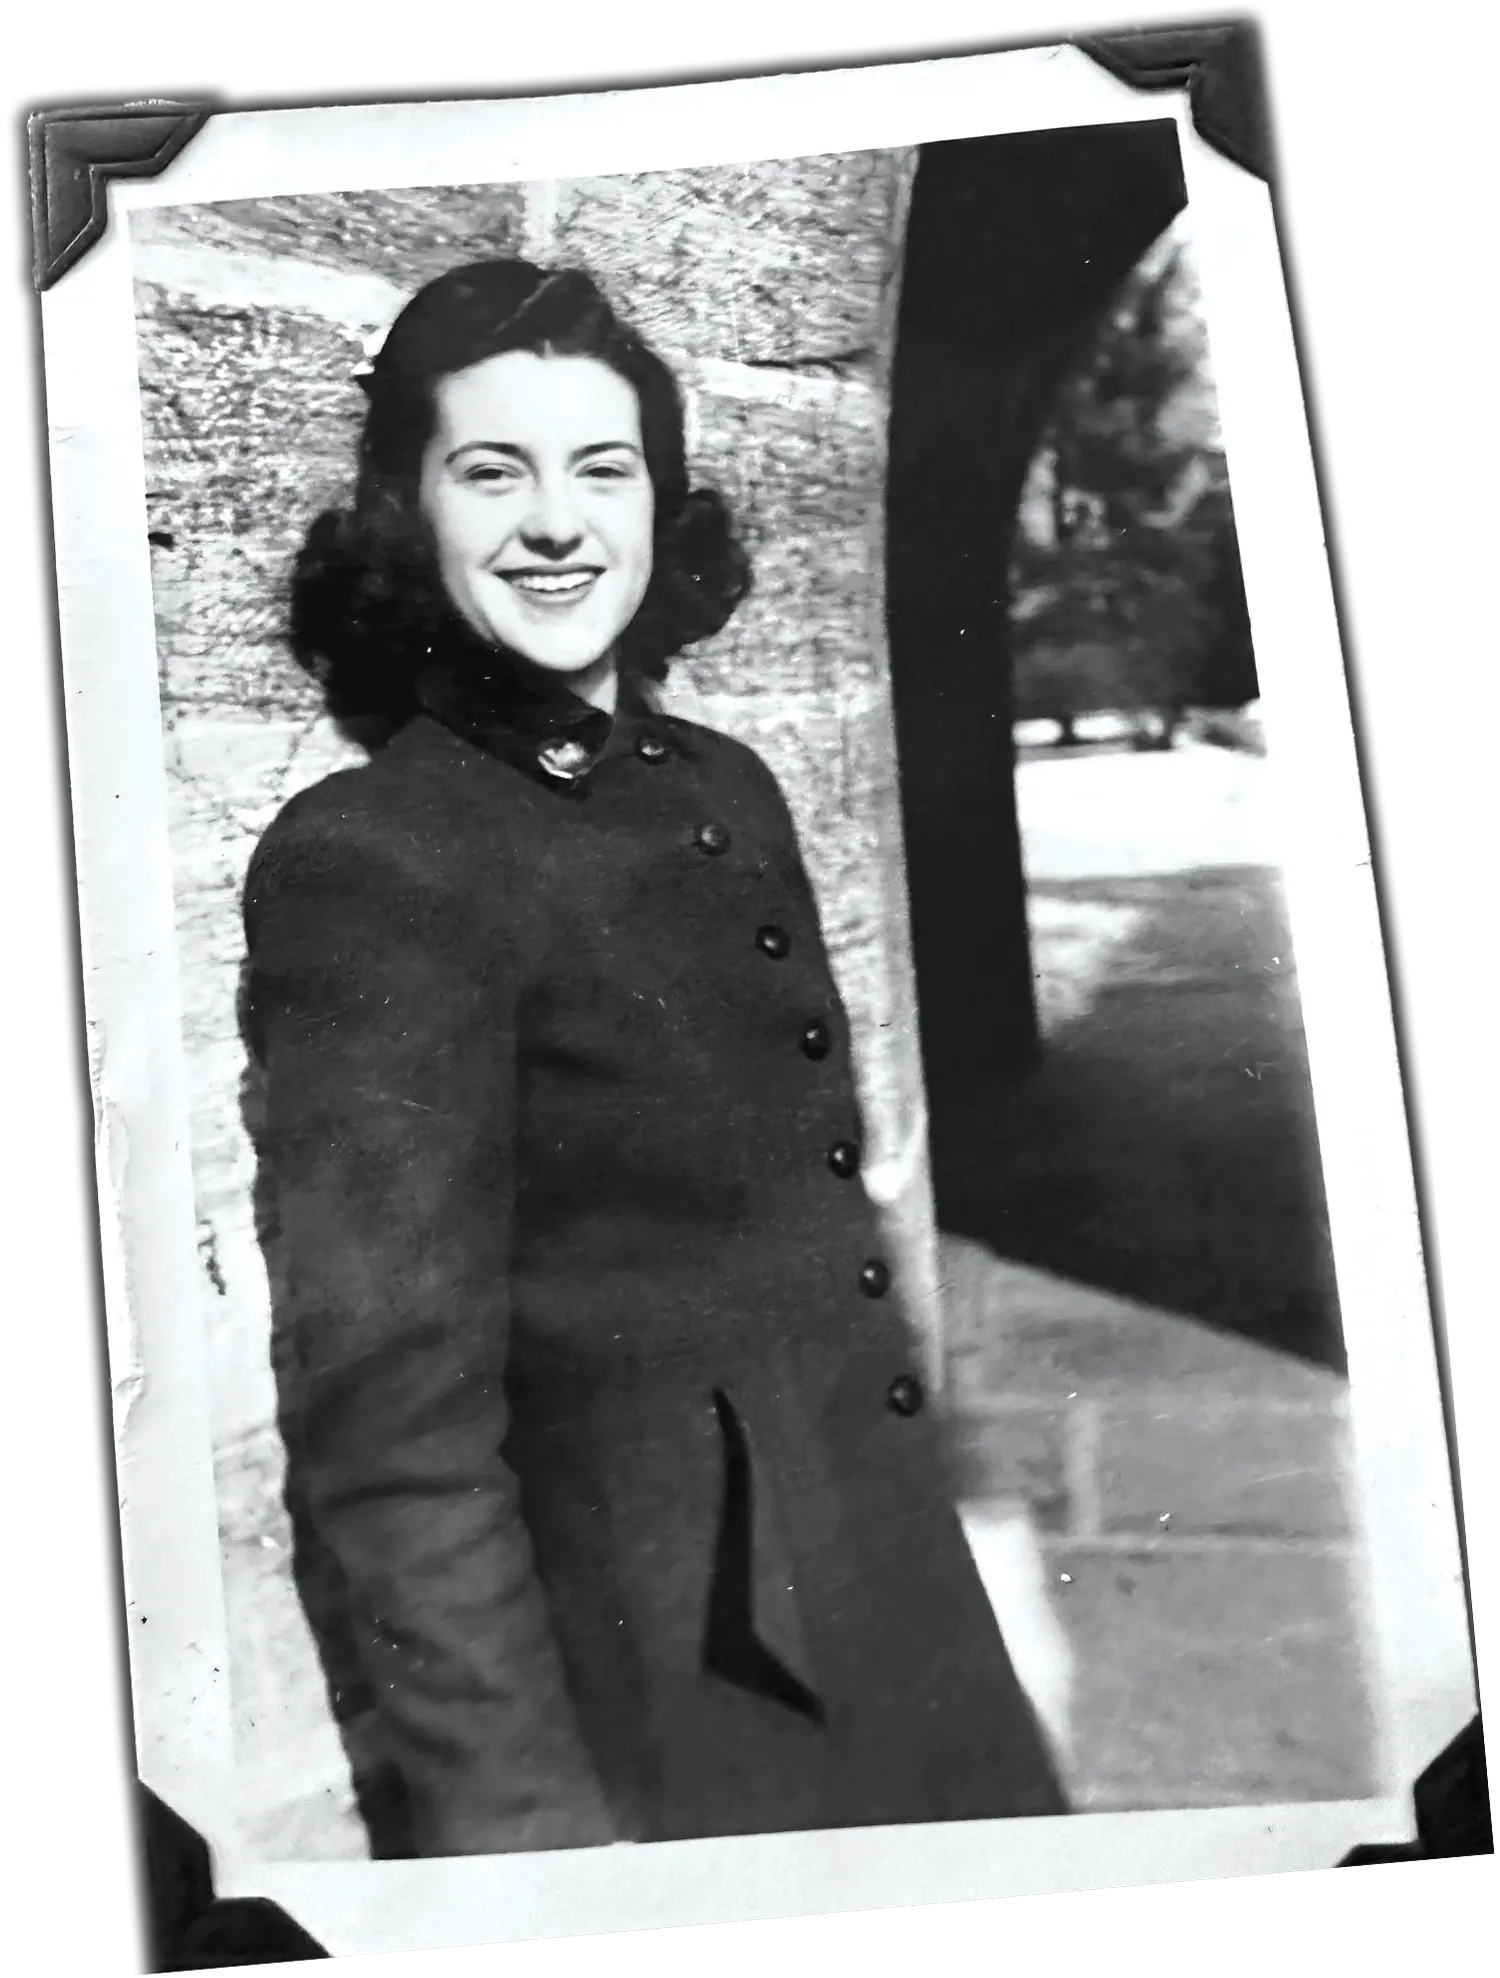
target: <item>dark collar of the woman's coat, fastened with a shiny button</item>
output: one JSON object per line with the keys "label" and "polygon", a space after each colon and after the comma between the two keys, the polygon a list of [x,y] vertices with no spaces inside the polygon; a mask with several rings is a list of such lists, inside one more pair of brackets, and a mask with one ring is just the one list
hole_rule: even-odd
{"label": "dark collar of the woman's coat, fastened with a shiny button", "polygon": [[613,714],[461,621],[437,629],[416,680],[418,704],[453,734],[550,789],[580,795],[596,764],[629,748],[651,708],[621,676]]}

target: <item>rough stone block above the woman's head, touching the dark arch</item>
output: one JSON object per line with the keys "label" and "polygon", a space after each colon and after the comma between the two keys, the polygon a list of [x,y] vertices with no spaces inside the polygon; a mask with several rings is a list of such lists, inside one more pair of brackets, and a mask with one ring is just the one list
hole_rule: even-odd
{"label": "rough stone block above the woman's head, touching the dark arch", "polygon": [[873,352],[891,328],[910,150],[556,184],[554,265],[586,267],[663,350],[736,362]]}

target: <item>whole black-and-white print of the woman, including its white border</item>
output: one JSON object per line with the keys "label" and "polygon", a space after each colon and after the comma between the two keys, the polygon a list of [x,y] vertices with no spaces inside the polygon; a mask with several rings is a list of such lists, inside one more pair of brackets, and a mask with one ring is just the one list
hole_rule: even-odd
{"label": "whole black-and-white print of the woman, including its white border", "polygon": [[1181,91],[214,117],[44,326],[220,1885],[360,1956],[1403,1840],[1474,1699],[1401,1086]]}

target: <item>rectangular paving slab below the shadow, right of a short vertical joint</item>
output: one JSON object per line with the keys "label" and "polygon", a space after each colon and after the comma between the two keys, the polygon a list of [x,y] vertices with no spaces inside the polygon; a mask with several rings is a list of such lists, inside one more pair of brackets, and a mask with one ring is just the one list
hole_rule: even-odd
{"label": "rectangular paving slab below the shadow, right of a short vertical joint", "polygon": [[1274,1400],[1100,1408],[1106,1531],[1346,1537],[1342,1414]]}

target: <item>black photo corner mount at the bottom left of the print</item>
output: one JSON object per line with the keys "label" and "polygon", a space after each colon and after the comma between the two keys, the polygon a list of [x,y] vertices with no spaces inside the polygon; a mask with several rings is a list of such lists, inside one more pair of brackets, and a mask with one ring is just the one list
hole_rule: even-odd
{"label": "black photo corner mount at the bottom left of the print", "polygon": [[265,1897],[216,1897],[202,1836],[137,1778],[131,1820],[131,1970],[313,1972],[334,1960]]}

